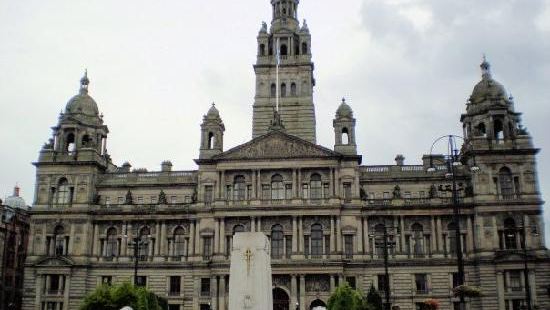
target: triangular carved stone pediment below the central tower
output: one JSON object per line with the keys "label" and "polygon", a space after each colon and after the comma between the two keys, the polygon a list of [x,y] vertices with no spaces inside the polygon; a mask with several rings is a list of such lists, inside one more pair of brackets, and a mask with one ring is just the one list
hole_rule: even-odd
{"label": "triangular carved stone pediment below the central tower", "polygon": [[341,154],[325,147],[285,134],[272,131],[250,142],[232,148],[214,160],[257,160],[292,158],[335,158]]}

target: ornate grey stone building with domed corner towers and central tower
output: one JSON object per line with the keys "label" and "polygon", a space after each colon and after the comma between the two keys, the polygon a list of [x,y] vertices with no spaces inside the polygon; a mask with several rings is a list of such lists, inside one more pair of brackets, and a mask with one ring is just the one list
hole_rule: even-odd
{"label": "ornate grey stone building with domed corner towers and central tower", "polygon": [[389,288],[394,309],[426,299],[458,309],[459,256],[465,284],[481,290],[467,309],[550,309],[538,149],[489,63],[457,120],[460,152],[365,165],[345,101],[333,128],[319,128],[333,130],[334,146],[316,143],[310,31],[299,0],[271,4],[257,37],[252,140],[225,147],[212,105],[196,170],[115,165],[82,78],[34,163],[23,309],[78,309],[102,283],[128,281],[171,310],[225,310],[232,237],[243,231],[271,241],[277,310],[324,306],[344,282],[383,297]]}

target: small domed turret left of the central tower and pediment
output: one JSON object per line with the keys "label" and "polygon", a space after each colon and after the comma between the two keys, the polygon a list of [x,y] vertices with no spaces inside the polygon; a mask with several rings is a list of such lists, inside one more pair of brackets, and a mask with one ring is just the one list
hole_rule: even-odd
{"label": "small domed turret left of the central tower and pediment", "polygon": [[216,105],[212,103],[201,124],[200,159],[212,158],[223,152],[224,131],[225,126],[220,117],[220,112]]}

